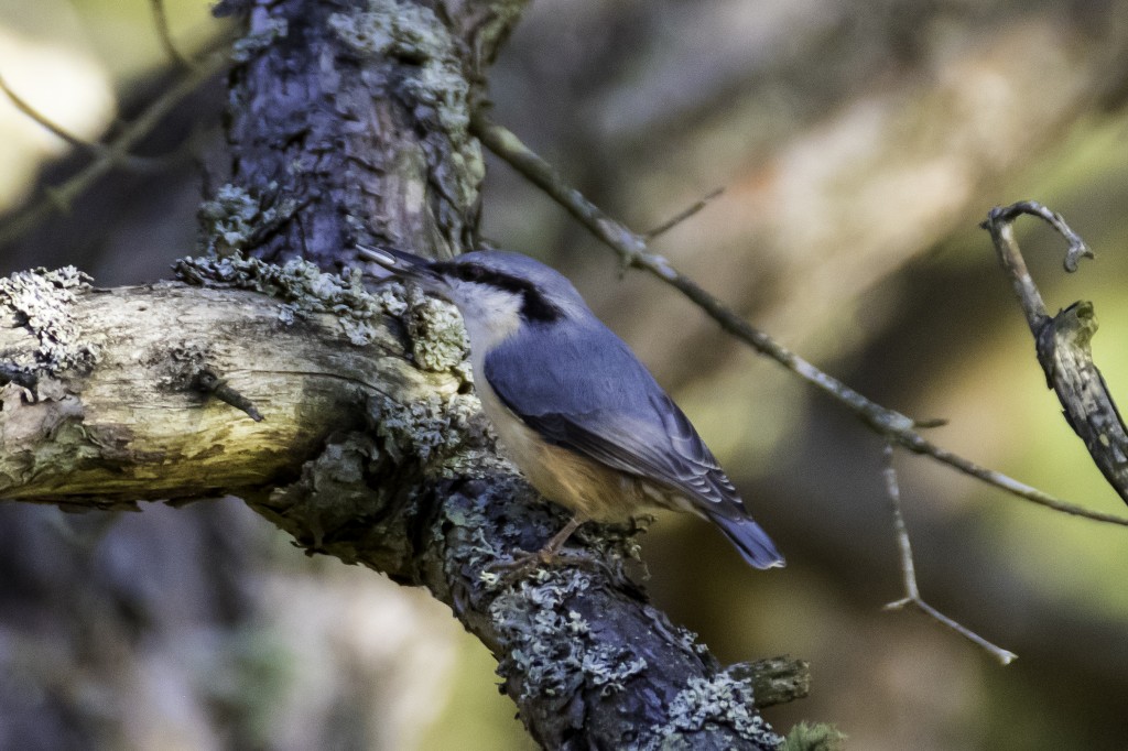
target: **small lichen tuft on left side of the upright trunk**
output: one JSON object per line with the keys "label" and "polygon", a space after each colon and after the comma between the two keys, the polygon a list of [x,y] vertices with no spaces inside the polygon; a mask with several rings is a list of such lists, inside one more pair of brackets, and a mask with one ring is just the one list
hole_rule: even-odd
{"label": "small lichen tuft on left side of the upright trunk", "polygon": [[226,183],[200,204],[200,251],[228,256],[249,248],[297,211],[293,198],[277,197],[277,183],[252,192]]}

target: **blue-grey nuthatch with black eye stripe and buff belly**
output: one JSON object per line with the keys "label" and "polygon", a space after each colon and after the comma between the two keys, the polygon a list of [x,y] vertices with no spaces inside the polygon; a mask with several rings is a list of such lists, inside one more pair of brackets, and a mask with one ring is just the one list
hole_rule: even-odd
{"label": "blue-grey nuthatch with black eye stripe and buff belly", "polygon": [[541,559],[589,519],[661,506],[713,521],[757,568],[783,566],[686,415],[564,276],[496,250],[443,262],[361,253],[461,312],[475,388],[503,452],[575,514]]}

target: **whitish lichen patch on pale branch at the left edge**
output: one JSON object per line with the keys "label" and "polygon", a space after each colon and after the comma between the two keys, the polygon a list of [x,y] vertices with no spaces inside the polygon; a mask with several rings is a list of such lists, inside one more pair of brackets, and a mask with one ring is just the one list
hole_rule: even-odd
{"label": "whitish lichen patch on pale branch at the left edge", "polygon": [[24,373],[58,374],[92,366],[97,350],[82,341],[72,315],[76,293],[89,289],[91,281],[73,266],[34,268],[0,279],[0,308],[9,309],[39,343],[35,350],[6,353],[5,362]]}

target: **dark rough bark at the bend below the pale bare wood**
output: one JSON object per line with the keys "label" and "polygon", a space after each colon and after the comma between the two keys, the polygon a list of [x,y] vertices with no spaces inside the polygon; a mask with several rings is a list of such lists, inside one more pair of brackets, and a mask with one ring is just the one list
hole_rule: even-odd
{"label": "dark rough bark at the bend below the pale bare wood", "polygon": [[[358,401],[362,397],[358,394]],[[374,395],[342,425],[298,480],[274,489],[257,511],[311,555],[364,563],[420,584],[437,540],[426,534],[442,498],[428,488],[481,475],[493,457],[472,395],[396,401]],[[496,461],[496,459],[493,459]],[[422,489],[421,489],[422,488]]]}

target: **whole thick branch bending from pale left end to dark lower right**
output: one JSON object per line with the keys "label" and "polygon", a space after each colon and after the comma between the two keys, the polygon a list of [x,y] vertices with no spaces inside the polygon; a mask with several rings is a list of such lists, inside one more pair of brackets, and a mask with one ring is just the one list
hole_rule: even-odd
{"label": "whole thick branch bending from pale left end to dark lower right", "polygon": [[[95,290],[71,272],[0,285],[2,372],[19,376],[0,387],[0,493],[86,506],[238,493],[310,553],[428,586],[493,651],[546,748],[778,743],[754,686],[803,696],[805,665],[722,670],[646,602],[631,536],[582,536],[589,568],[497,576],[565,514],[497,457],[450,308],[299,262],[178,271],[191,285]],[[417,333],[408,348],[393,313]],[[202,371],[262,422],[201,394]]]}

